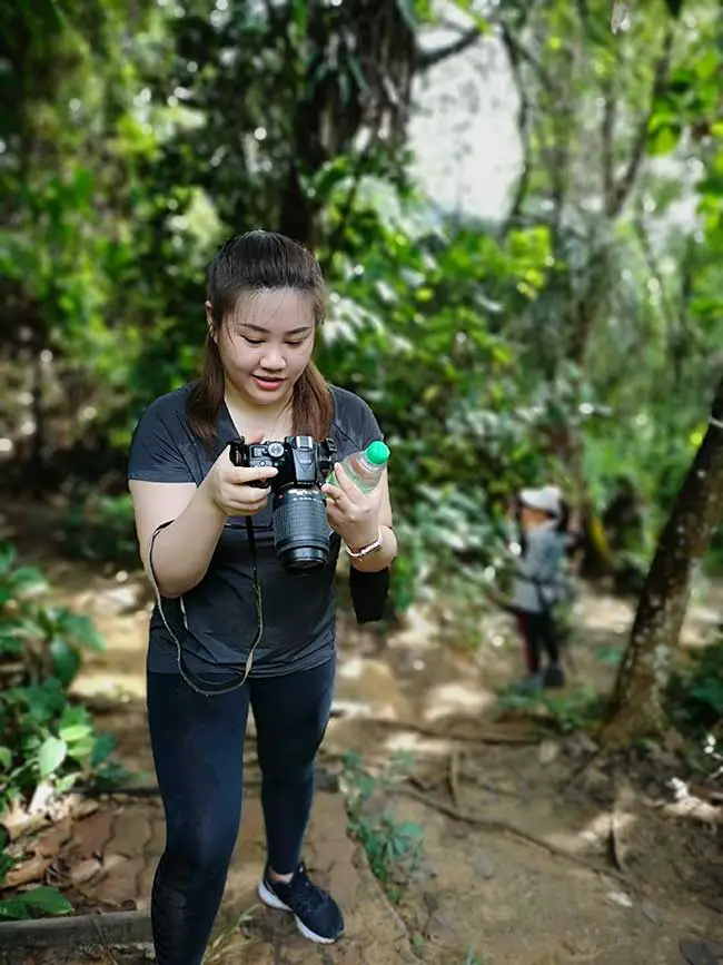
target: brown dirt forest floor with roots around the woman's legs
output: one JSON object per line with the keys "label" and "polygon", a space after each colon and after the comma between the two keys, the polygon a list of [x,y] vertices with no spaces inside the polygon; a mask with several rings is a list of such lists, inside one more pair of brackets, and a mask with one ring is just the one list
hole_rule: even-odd
{"label": "brown dirt forest floor with roots around the woman's legs", "polygon": [[[145,581],[41,550],[23,529],[16,534],[23,558],[41,565],[57,597],[91,616],[106,640],[75,690],[98,728],[116,735],[130,782],[152,786]],[[343,584],[340,597],[346,603]],[[684,646],[710,639],[722,612],[723,588],[710,587],[690,609]],[[347,935],[335,946],[310,945],[256,897],[264,830],[251,730],[245,816],[208,965],[715,963],[685,958],[679,945],[696,936],[723,942],[723,808],[686,792],[679,748],[637,755],[624,779],[612,780],[594,761],[575,777],[594,750],[574,729],[575,708],[590,690],[608,692],[611,656],[624,646],[631,618],[627,603],[584,591],[576,670],[559,698],[571,732],[555,735],[501,706],[498,693],[521,662],[504,616],[477,631],[469,613],[459,623],[448,612],[414,611],[385,636],[360,631],[344,609],[305,855],[343,905]],[[348,759],[345,767],[349,751],[370,782],[359,784]],[[360,786],[370,799],[354,836],[349,794]],[[56,834],[56,866],[72,882],[68,894],[79,912],[148,908],[164,845],[152,792],[103,797],[60,837],[57,828],[46,834]],[[0,962],[2,954],[0,947]],[[152,954],[141,945],[17,949],[7,957],[9,965],[146,961]]]}

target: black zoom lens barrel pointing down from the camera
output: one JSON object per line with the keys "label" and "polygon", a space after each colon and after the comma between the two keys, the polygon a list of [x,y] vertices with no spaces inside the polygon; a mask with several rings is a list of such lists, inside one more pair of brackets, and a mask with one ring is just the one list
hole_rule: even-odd
{"label": "black zoom lens barrel pointing down from the camera", "polygon": [[319,570],[329,559],[329,525],[318,486],[291,486],[274,499],[274,542],[289,573]]}

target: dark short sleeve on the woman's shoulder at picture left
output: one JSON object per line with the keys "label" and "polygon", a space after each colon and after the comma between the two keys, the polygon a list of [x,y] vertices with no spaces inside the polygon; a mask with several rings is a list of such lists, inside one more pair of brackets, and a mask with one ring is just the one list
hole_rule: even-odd
{"label": "dark short sleeve on the woman's shoulder at picture left", "polygon": [[128,479],[145,482],[195,482],[184,457],[181,441],[174,432],[174,413],[158,402],[141,415],[128,453]]}

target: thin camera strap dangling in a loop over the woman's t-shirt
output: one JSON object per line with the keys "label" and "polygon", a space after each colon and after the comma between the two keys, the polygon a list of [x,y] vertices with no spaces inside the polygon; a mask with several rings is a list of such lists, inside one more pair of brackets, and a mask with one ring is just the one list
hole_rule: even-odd
{"label": "thin camera strap dangling in a loop over the woman's t-shirt", "polygon": [[[248,657],[246,658],[246,662],[242,664],[237,663],[228,663],[228,664],[218,664],[214,660],[208,660],[208,658],[202,657],[200,653],[196,654],[198,660],[208,663],[210,667],[222,667],[225,672],[228,672],[235,676],[238,679],[235,679],[231,683],[220,682],[218,680],[204,680],[197,673],[194,673],[192,670],[188,667],[186,662],[186,658],[184,657],[184,648],[178,639],[177,634],[172,630],[170,623],[168,622],[168,618],[166,617],[166,612],[164,610],[164,600],[158,588],[158,580],[156,579],[156,572],[153,570],[153,546],[156,544],[156,538],[160,533],[161,530],[165,530],[167,526],[175,522],[175,520],[168,520],[165,523],[161,523],[159,526],[153,530],[153,533],[148,542],[148,565],[147,572],[150,579],[151,585],[153,588],[153,593],[156,594],[156,607],[158,608],[158,612],[160,614],[161,620],[164,621],[164,626],[168,632],[168,636],[171,638],[174,643],[176,644],[176,660],[178,663],[178,672],[184,678],[186,683],[195,690],[197,693],[201,693],[204,697],[214,697],[219,693],[230,693],[231,690],[237,690],[239,687],[242,687],[248,679],[248,674],[251,672],[251,667],[254,666],[254,654],[256,653],[256,648],[261,642],[261,637],[264,634],[264,610],[261,607],[261,584],[258,578],[258,563],[256,555],[256,534],[254,532],[254,521],[251,516],[246,516],[246,533],[248,535],[248,545],[251,554],[251,567],[252,567],[252,578],[251,578],[251,589],[254,593],[254,608],[256,610],[256,637],[254,638],[254,642],[251,643]],[[192,637],[194,632],[188,626],[188,619],[186,616],[186,604],[184,602],[182,595],[179,598],[179,605],[181,616],[184,619],[184,628],[186,631]]]}

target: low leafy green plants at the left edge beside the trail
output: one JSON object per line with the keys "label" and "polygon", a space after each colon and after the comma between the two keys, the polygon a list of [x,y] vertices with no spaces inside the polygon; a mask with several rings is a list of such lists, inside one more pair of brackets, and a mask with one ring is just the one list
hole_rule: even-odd
{"label": "low leafy green plants at the left edge beside the trail", "polygon": [[[82,654],[102,641],[87,618],[51,604],[47,591],[42,574],[18,565],[12,546],[0,544],[0,815],[30,802],[40,787],[62,795],[80,778],[121,774],[110,760],[112,736],[97,733],[68,692]],[[0,886],[13,863],[0,851]],[[70,910],[55,888],[0,902],[0,918]]]}

